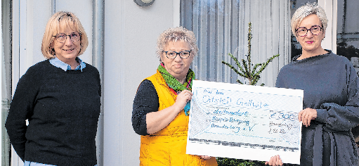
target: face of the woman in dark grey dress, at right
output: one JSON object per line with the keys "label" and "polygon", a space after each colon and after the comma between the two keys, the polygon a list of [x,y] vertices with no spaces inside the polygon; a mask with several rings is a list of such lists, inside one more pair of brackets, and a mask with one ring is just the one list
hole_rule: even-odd
{"label": "face of the woman in dark grey dress, at right", "polygon": [[[299,27],[306,27],[307,30],[311,29],[311,27],[318,25],[322,27],[322,22],[318,18],[317,15],[311,14],[303,18],[300,25],[296,26],[296,29]],[[318,35],[313,35],[311,31],[308,31],[306,36],[300,37],[297,35],[296,40],[299,41],[302,48],[303,55],[320,55],[322,54],[324,49],[322,49],[322,39],[325,37],[325,32],[322,30]]]}

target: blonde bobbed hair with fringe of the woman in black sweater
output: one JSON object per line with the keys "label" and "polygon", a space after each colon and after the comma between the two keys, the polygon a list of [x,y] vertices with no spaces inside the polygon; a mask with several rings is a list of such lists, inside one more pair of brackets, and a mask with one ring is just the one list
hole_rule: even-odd
{"label": "blonde bobbed hair with fringe of the woman in black sweater", "polygon": [[44,37],[42,38],[41,51],[46,59],[55,58],[55,51],[52,46],[52,42],[55,41],[56,34],[58,34],[60,27],[70,27],[72,30],[76,30],[81,34],[80,38],[80,51],[79,55],[84,53],[87,46],[89,46],[89,39],[87,39],[84,27],[82,27],[79,18],[71,12],[59,11],[51,16],[46,24],[46,30]]}

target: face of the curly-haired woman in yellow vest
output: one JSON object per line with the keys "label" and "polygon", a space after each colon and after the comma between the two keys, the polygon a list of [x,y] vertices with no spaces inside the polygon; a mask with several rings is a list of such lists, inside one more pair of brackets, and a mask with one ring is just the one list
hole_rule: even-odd
{"label": "face of the curly-haired woman in yellow vest", "polygon": [[[166,46],[164,46],[164,51],[190,51],[190,46],[185,41],[169,41]],[[174,59],[167,58],[166,53],[161,54],[161,61],[164,63],[164,68],[167,72],[174,76],[178,82],[183,83],[185,77],[190,68],[190,63],[192,63],[193,56],[190,54],[188,58],[181,58],[179,55]]]}

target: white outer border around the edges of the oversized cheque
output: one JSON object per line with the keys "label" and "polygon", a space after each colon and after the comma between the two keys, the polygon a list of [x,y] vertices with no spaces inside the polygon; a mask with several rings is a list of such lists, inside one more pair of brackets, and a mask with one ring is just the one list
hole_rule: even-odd
{"label": "white outer border around the edges of the oversized cheque", "polygon": [[[258,94],[299,96],[303,98],[303,90],[298,90],[298,89],[258,87],[258,86],[242,85],[242,84],[206,82],[199,80],[193,81],[192,91],[195,91],[195,89],[199,87],[206,89],[223,89],[229,91],[249,91]],[[193,98],[195,98],[195,96]],[[302,108],[302,105],[296,106],[296,108]],[[300,146],[298,151],[292,151],[291,149],[283,149],[281,146],[275,148],[273,146],[266,146],[266,145],[253,146],[256,144],[238,143],[241,142],[240,140],[236,141],[237,143],[220,141],[218,140],[218,138],[208,138],[208,139],[203,139],[202,141],[191,139],[192,141],[190,141],[189,136],[192,127],[191,122],[193,118],[191,114],[192,111],[190,111],[190,122],[188,127],[188,140],[187,140],[188,142],[186,149],[186,153],[188,154],[209,155],[209,156],[223,157],[223,158],[239,158],[244,160],[262,160],[262,161],[269,160],[270,157],[273,155],[280,155],[282,161],[285,163],[300,164]],[[301,138],[301,133],[299,133],[299,140],[300,138]],[[216,140],[216,141],[206,142],[205,140]]]}

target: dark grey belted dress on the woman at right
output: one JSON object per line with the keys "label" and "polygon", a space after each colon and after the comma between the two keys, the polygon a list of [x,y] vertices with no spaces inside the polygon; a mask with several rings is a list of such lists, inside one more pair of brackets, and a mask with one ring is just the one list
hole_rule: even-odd
{"label": "dark grey belted dress on the woman at right", "polygon": [[358,165],[351,133],[359,125],[359,79],[353,65],[332,51],[298,57],[280,70],[276,87],[303,89],[303,109],[317,110],[311,126],[302,127],[301,165]]}

